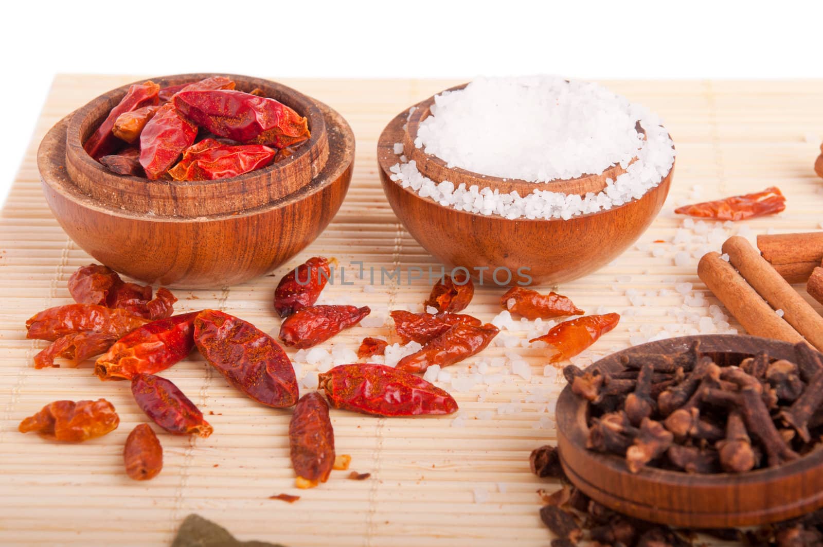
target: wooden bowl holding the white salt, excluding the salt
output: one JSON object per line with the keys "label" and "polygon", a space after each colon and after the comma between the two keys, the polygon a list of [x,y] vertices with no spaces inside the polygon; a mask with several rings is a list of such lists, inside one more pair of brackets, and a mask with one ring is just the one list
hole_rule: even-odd
{"label": "wooden bowl holding the white salt, excluding the salt", "polygon": [[389,169],[399,161],[393,150],[395,143],[403,143],[407,158],[415,160],[418,170],[431,180],[450,180],[455,186],[465,182],[467,187],[491,187],[500,189],[501,194],[513,189],[521,196],[531,194],[533,189],[579,195],[597,193],[605,188],[607,178],[613,179],[625,172],[621,166],[611,166],[603,173],[536,185],[446,166],[439,157],[425,154],[413,144],[417,128],[429,115],[433,101],[434,97],[430,97],[415,105],[411,116],[408,110],[403,111],[383,130],[377,146],[380,180],[394,213],[425,250],[450,268],[467,268],[475,280],[484,269],[488,279],[497,268],[506,268],[512,273],[506,283],[503,283],[504,274],[495,278],[495,283],[507,285],[528,281],[525,276],[518,276],[521,268],[528,269],[525,273],[533,283],[554,284],[582,277],[621,255],[637,241],[663,207],[674,166],[660,184],[642,198],[569,220],[509,220],[458,211],[433,199],[421,198],[413,189],[403,188],[390,178]]}

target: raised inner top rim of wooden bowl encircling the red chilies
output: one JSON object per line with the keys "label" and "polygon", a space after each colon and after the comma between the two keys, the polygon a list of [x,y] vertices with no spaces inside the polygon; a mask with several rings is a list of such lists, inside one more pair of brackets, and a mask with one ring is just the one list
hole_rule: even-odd
{"label": "raised inner top rim of wooden bowl encircling the red chilies", "polygon": [[[112,171],[109,171],[109,169],[103,166],[99,161],[95,161],[82,147],[82,143],[85,142],[87,135],[81,133],[91,133],[92,128],[95,128],[103,121],[103,119],[105,119],[103,115],[99,115],[97,119],[91,120],[91,122],[89,122],[88,118],[91,115],[91,112],[99,108],[100,105],[103,105],[106,102],[112,100],[112,98],[119,99],[125,96],[129,86],[151,81],[159,84],[162,88],[163,86],[176,85],[177,83],[198,82],[199,80],[202,80],[207,77],[217,76],[228,77],[234,80],[235,82],[238,82],[241,86],[265,86],[277,90],[277,101],[280,101],[284,105],[291,107],[292,109],[296,110],[298,114],[305,116],[308,119],[309,130],[311,131],[311,136],[309,140],[305,143],[301,143],[300,146],[297,147],[294,156],[284,161],[272,163],[272,165],[263,167],[263,169],[258,169],[235,177],[230,177],[229,179],[195,180],[185,182],[175,182],[173,180],[163,179],[148,180],[146,179],[146,177],[141,176],[118,175]],[[315,101],[312,97],[309,97],[301,93],[300,91],[295,90],[292,87],[283,85],[279,82],[274,82],[272,80],[267,80],[266,78],[251,77],[242,74],[230,74],[226,72],[190,72],[184,74],[169,74],[160,77],[142,78],[135,82],[130,82],[123,86],[115,87],[112,90],[101,93],[91,101],[88,101],[85,105],[81,106],[77,110],[74,110],[68,117],[69,121],[67,124],[66,133],[66,149],[67,153],[69,151],[72,151],[74,161],[80,161],[84,169],[87,169],[90,172],[98,174],[100,176],[100,180],[103,181],[107,180],[107,178],[111,176],[116,177],[117,180],[128,181],[128,183],[130,184],[146,185],[150,189],[152,186],[160,188],[168,187],[170,185],[180,185],[196,191],[197,189],[201,188],[208,189],[216,185],[225,184],[227,180],[230,180],[231,184],[233,185],[244,185],[249,181],[258,180],[260,177],[265,176],[274,171],[283,171],[285,169],[289,169],[290,166],[294,164],[296,161],[306,162],[308,166],[309,160],[307,156],[309,156],[309,154],[313,152],[314,148],[319,146],[321,139],[327,138],[328,129],[326,128],[326,117],[327,116],[324,115],[324,113],[319,108],[319,102]],[[87,123],[88,128],[86,129],[86,131],[81,131],[83,125]],[[327,161],[326,158],[321,159],[323,160],[323,164],[325,163],[325,161]],[[322,171],[323,165],[320,165],[319,167],[320,171]],[[309,180],[314,178],[314,175],[316,174],[312,175],[313,176],[309,177]]]}

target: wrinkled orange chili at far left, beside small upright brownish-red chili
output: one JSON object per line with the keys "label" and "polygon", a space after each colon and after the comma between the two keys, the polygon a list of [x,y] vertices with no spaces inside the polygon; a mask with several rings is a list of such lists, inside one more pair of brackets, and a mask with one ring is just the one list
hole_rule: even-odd
{"label": "wrinkled orange chili at far left, beside small upright brownish-red chili", "polygon": [[117,429],[120,418],[105,399],[56,400],[24,419],[17,429],[35,431],[51,441],[81,442],[102,437]]}

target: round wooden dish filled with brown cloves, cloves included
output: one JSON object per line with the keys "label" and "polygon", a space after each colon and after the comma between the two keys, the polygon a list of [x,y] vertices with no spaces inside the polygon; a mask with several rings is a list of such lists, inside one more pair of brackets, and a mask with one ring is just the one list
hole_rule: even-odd
{"label": "round wooden dish filled with brown cloves, cloves included", "polygon": [[[763,370],[755,372],[758,354]],[[752,359],[744,361],[746,358]],[[624,427],[611,418],[604,418],[621,412],[630,414],[627,410],[630,408],[628,396],[625,392],[618,395],[616,391],[624,391],[621,384],[630,383],[628,379],[633,376],[632,372],[639,372],[643,367],[653,371],[649,376],[655,379],[649,381],[649,386],[650,393],[654,393],[653,382],[666,381],[663,376],[667,373],[663,371],[672,368],[677,374],[677,368],[685,369],[680,383],[666,388],[670,390],[668,399],[673,400],[671,395],[675,392],[679,394],[683,382],[688,386],[689,382],[694,384],[697,380],[697,376],[690,379],[690,375],[698,374],[695,371],[700,359],[708,363],[706,367],[716,365],[715,371],[729,372],[718,376],[704,374],[686,404],[678,406],[678,412],[686,406],[699,409],[697,413],[690,412],[695,416],[695,429],[690,430],[689,437],[679,439],[677,435],[667,435],[667,432],[677,431],[679,418],[672,418],[673,422],[667,418],[645,425],[641,422],[636,428],[628,424]],[[579,377],[581,384],[588,384],[588,387],[599,392],[588,393],[584,398],[573,392],[582,393],[581,385],[574,389],[573,386],[566,386],[557,401],[557,446],[565,474],[575,486],[598,503],[630,517],[670,526],[754,526],[787,520],[819,509],[823,507],[821,428],[819,425],[809,425],[811,443],[802,450],[799,448],[799,435],[786,441],[783,436],[789,437],[788,432],[793,428],[780,430],[783,427],[780,417],[786,415],[783,412],[787,410],[796,413],[797,409],[791,409],[783,401],[783,395],[774,395],[771,399],[770,394],[779,394],[778,390],[774,390],[774,381],[786,381],[788,376],[783,373],[779,377],[769,376],[766,367],[779,363],[775,367],[776,372],[784,372],[786,362],[796,363],[797,377],[794,380],[801,381],[799,378],[802,378],[803,386],[811,390],[807,396],[811,396],[819,391],[816,387],[823,381],[823,362],[820,359],[821,354],[813,349],[796,347],[787,342],[755,336],[708,334],[665,339],[628,348],[601,359],[585,371],[567,367],[564,371],[567,378],[572,377],[574,382]],[[660,379],[657,379],[658,376]],[[751,381],[752,377],[760,377],[760,380]],[[594,382],[589,382],[593,379]],[[760,381],[760,390],[747,395],[751,395],[754,401],[764,401],[762,404],[751,404],[751,400],[742,396],[742,388],[738,384],[746,384],[747,380],[755,387]],[[704,390],[703,382],[712,383],[716,388],[705,387]],[[732,392],[737,389],[740,391]],[[703,393],[706,394],[705,398],[701,395]],[[823,397],[823,394],[820,395]],[[662,412],[658,409],[663,405],[660,397],[658,395],[657,403],[652,403],[655,408],[653,413]],[[814,398],[820,397],[814,395]],[[800,401],[797,403],[800,406],[805,405],[802,397],[796,401]],[[718,406],[713,407],[713,404]],[[766,410],[771,404],[776,408]],[[621,408],[621,405],[624,405],[622,410],[606,408]],[[759,412],[756,409],[758,406],[763,407]],[[733,426],[732,414],[738,414]],[[758,414],[763,423],[758,421]],[[672,415],[668,414],[669,417]],[[713,420],[726,416],[727,423],[720,424],[719,432],[714,433],[714,438],[724,437],[712,441],[709,436],[713,434],[710,431]],[[773,421],[779,425],[774,426],[771,435],[768,435],[765,426],[772,429],[769,423]],[[607,424],[607,434],[603,429],[604,423]],[[753,427],[754,423],[759,425]],[[658,424],[660,427],[657,427]],[[600,432],[593,436],[595,428],[600,428]],[[665,441],[672,442],[669,448],[680,446],[682,450],[678,448],[672,454],[668,451],[654,454],[644,452],[639,447],[645,442],[641,437],[647,434],[649,439],[654,437],[652,440],[655,442],[665,435]],[[631,454],[626,451],[625,456],[621,456],[602,451],[611,450],[606,448],[607,445],[616,447],[626,435],[630,438],[625,438],[625,441],[634,442],[630,446],[636,446]],[[770,437],[770,441],[763,440]],[[746,454],[750,457],[743,457]],[[653,456],[653,459],[647,462],[648,456]],[[688,467],[691,472],[677,469],[672,464],[677,460],[677,465],[682,465],[683,456],[686,459],[695,458],[691,462],[694,465]],[[704,459],[703,456],[709,457]],[[772,461],[772,458],[776,460]],[[758,459],[759,464],[756,463]]]}

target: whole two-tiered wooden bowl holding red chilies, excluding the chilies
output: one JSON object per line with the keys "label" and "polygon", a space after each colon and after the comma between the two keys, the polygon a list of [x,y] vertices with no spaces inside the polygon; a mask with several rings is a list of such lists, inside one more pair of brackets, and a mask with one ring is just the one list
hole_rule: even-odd
{"label": "whole two-tiered wooden bowl holding red chilies, excluding the chilies", "polygon": [[46,134],[37,162],[54,216],[99,262],[170,287],[242,283],[303,250],[337,213],[355,152],[346,120],[309,96],[259,78],[181,74],[151,82],[174,90],[213,77],[226,77],[236,90],[254,91],[305,116],[309,140],[283,161],[231,178],[119,175],[95,161],[83,144],[129,86],[97,97]]}

